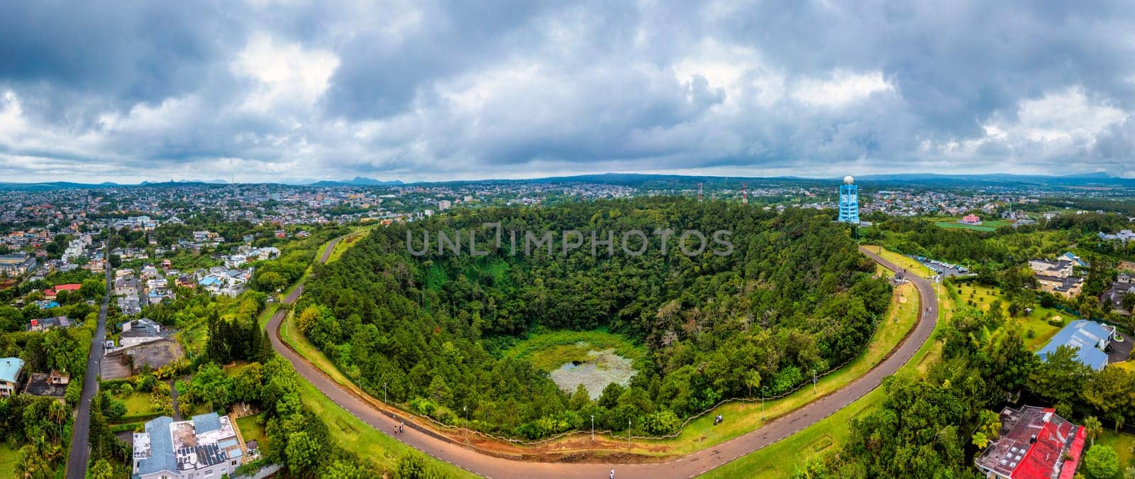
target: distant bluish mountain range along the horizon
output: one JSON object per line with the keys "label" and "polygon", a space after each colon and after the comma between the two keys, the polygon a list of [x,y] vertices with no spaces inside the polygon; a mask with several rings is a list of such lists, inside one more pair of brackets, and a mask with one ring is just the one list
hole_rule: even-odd
{"label": "distant bluish mountain range along the horizon", "polygon": [[[762,183],[784,183],[792,182],[799,184],[824,184],[824,183],[836,183],[842,178],[831,177],[831,178],[805,178],[794,176],[780,176],[780,177],[726,177],[726,176],[687,176],[687,175],[651,175],[651,174],[633,174],[633,173],[605,173],[598,175],[575,175],[575,176],[554,176],[545,178],[530,178],[530,179],[478,179],[478,180],[454,180],[454,182],[414,182],[410,184],[422,184],[422,185],[442,185],[442,184],[477,184],[477,183],[599,183],[609,185],[625,185],[625,186],[656,186],[656,187],[691,187],[699,182],[704,182],[707,185],[726,185],[730,187],[735,187],[740,183],[751,182],[750,186],[756,186]],[[856,177],[857,183],[873,184],[876,186],[885,186],[890,184],[894,185],[924,185],[924,186],[982,186],[982,185],[1000,185],[1000,186],[1065,186],[1065,187],[1076,187],[1076,186],[1124,186],[1124,187],[1135,187],[1135,178],[1121,178],[1116,176],[1110,176],[1105,173],[1092,173],[1083,175],[1068,175],[1068,176],[1045,176],[1045,175],[1010,175],[1010,174],[991,174],[991,175],[939,175],[932,173],[919,173],[919,174],[898,174],[898,175],[863,175]],[[96,188],[108,188],[108,187],[163,187],[163,186],[185,186],[185,185],[224,185],[228,182],[224,179],[213,179],[210,182],[199,182],[199,180],[169,180],[169,182],[142,182],[140,184],[119,184],[119,183],[70,183],[70,182],[49,182],[49,183],[0,183],[0,191],[47,191],[47,190],[96,190]],[[295,186],[397,186],[404,185],[400,180],[380,180],[373,178],[367,178],[362,176],[356,176],[351,179],[340,180],[308,180],[299,183],[286,183],[288,185]]]}

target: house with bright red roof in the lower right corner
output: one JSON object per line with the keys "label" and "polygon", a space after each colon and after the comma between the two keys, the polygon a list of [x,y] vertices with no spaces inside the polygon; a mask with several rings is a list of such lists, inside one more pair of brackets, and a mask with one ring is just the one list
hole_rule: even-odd
{"label": "house with bright red roof in the lower right corner", "polygon": [[974,465],[987,478],[1071,479],[1084,452],[1086,431],[1052,407],[1006,407],[1001,430]]}

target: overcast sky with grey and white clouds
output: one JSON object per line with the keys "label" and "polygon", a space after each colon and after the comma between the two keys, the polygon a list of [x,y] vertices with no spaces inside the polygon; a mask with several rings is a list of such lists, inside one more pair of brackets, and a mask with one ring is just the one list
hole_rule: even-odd
{"label": "overcast sky with grey and white clouds", "polygon": [[0,182],[1135,176],[1129,2],[82,3],[0,6]]}

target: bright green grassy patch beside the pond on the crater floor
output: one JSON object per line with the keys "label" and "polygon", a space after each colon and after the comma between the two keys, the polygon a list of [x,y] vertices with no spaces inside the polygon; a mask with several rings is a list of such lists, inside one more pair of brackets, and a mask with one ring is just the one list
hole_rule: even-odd
{"label": "bright green grassy patch beside the pond on the crater floor", "polygon": [[505,353],[507,358],[524,359],[538,369],[552,371],[566,362],[587,361],[589,351],[615,350],[615,354],[631,360],[641,358],[642,346],[627,338],[607,333],[553,331],[530,335]]}

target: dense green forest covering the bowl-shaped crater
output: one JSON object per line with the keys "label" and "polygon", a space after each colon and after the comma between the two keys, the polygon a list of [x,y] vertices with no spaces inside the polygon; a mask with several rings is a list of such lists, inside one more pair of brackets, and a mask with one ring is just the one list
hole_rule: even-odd
{"label": "dense green forest covering the bowl-shaped crater", "polygon": [[[501,249],[486,222],[502,225]],[[653,232],[667,228],[676,233],[663,255]],[[568,229],[588,239],[614,232],[615,253],[599,245],[592,255],[583,242],[563,254]],[[690,229],[711,243],[696,257],[679,249]],[[463,233],[464,254],[439,254],[432,238],[426,254],[409,252],[407,234],[417,250],[424,232],[440,230]],[[470,230],[486,255],[468,254]],[[511,230],[557,232],[552,254],[510,254]],[[645,254],[621,251],[629,230],[646,232]],[[732,232],[732,254],[714,253],[723,252],[708,239],[716,230]],[[297,326],[370,394],[381,397],[385,384],[390,401],[443,422],[468,406],[472,427],[526,438],[581,428],[590,414],[604,429],[632,421],[634,432],[659,435],[723,398],[781,394],[857,355],[891,295],[874,268],[815,210],[675,198],[485,208],[377,228],[339,261],[317,264]],[[608,385],[594,402],[502,354],[529,331],[598,327],[647,354],[628,387]]]}

